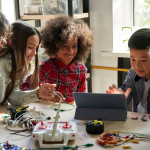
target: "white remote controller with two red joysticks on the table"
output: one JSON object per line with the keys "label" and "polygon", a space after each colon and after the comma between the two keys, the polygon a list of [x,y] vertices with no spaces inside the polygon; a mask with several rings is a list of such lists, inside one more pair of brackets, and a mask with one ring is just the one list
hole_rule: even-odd
{"label": "white remote controller with two red joysticks on the table", "polygon": [[[76,139],[77,127],[74,122],[59,122],[54,137],[54,122],[39,122],[33,132],[32,138],[39,141],[40,148],[60,148],[66,146],[69,140]],[[63,141],[63,143],[61,143]],[[44,143],[44,142],[47,142]],[[51,143],[50,142],[56,142]],[[60,142],[59,144],[57,142]]]}

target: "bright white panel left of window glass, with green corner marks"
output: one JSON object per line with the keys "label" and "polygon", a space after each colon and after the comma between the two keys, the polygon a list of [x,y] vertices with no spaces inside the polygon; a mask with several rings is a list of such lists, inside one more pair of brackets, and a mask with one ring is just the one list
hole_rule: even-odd
{"label": "bright white panel left of window glass, with green corner marks", "polygon": [[[133,28],[133,0],[112,0],[113,52],[129,51],[127,40]],[[124,28],[122,27],[131,27]]]}

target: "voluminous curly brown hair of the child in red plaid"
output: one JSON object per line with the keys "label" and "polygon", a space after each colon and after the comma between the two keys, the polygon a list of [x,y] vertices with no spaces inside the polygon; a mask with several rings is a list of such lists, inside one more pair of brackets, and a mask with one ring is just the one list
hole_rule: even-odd
{"label": "voluminous curly brown hair of the child in red plaid", "polygon": [[93,44],[93,34],[81,19],[57,15],[48,20],[41,30],[41,45],[48,56],[54,57],[64,42],[75,37],[78,39],[78,52],[73,61],[85,63]]}

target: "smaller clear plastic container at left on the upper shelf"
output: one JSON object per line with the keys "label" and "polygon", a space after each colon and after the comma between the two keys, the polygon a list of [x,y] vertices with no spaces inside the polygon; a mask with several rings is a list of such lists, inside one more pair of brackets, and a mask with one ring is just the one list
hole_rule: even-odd
{"label": "smaller clear plastic container at left on the upper shelf", "polygon": [[24,5],[26,9],[26,14],[28,15],[42,15],[42,6],[41,5]]}

